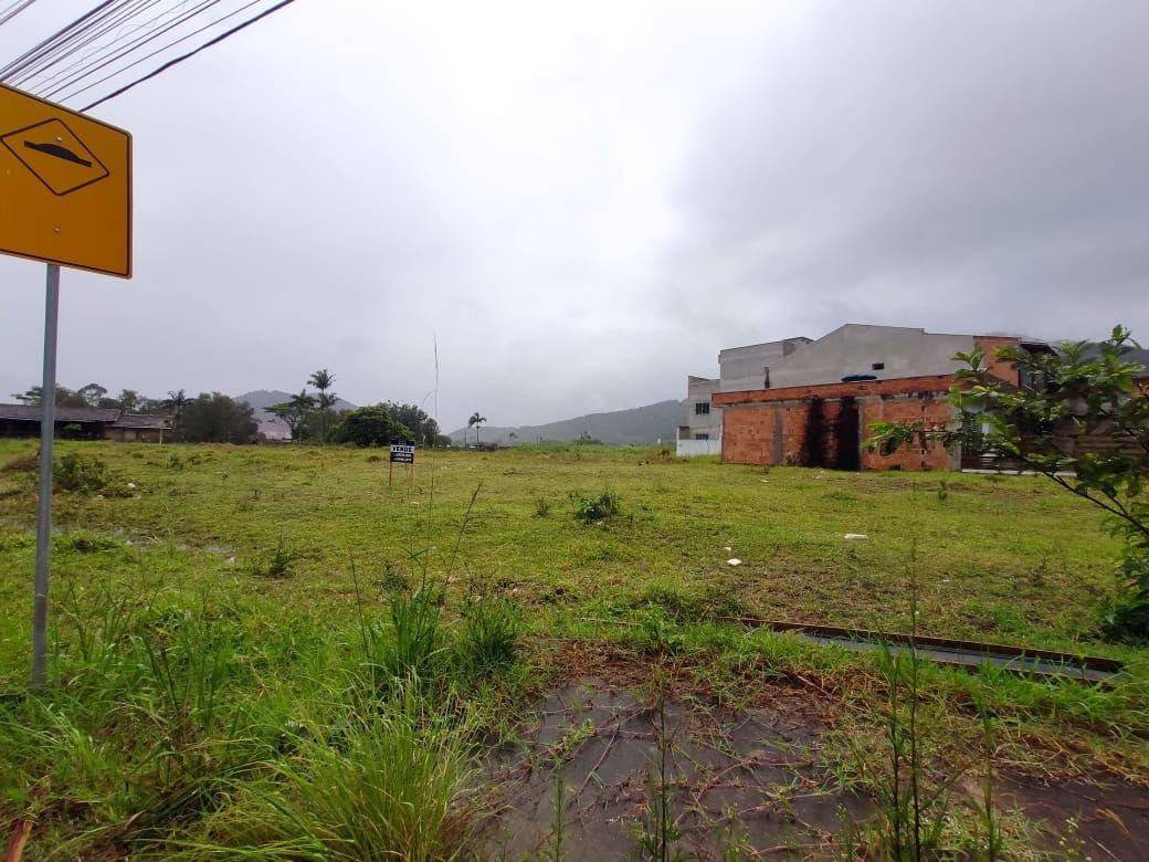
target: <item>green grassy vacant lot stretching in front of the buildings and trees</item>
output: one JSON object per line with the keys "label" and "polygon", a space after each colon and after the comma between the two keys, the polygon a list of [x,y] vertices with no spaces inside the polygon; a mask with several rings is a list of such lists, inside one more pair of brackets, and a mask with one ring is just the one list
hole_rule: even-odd
{"label": "green grassy vacant lot stretching in front of the buildings and trees", "polygon": [[[572,446],[421,453],[388,488],[370,451],[61,444],[69,453],[109,474],[102,490],[56,495],[54,684],[22,698],[34,444],[0,441],[0,691],[14,693],[0,706],[0,824],[34,817],[34,857],[466,857],[494,817],[468,777],[475,740],[514,736],[588,653],[669,667],[733,707],[801,691],[827,775],[880,798],[876,774],[842,754],[881,761],[880,662],[732,618],[907,631],[911,592],[920,633],[1128,667],[1110,688],[923,668],[931,772],[979,739],[978,702],[1017,775],[1149,776],[1149,651],[1096,639],[1115,541],[1039,478]],[[603,494],[617,514],[574,516]],[[368,792],[372,759],[418,799]],[[977,844],[972,810],[947,815],[954,852]],[[346,832],[356,814],[371,834]],[[1015,849],[1030,844],[1005,822]]]}

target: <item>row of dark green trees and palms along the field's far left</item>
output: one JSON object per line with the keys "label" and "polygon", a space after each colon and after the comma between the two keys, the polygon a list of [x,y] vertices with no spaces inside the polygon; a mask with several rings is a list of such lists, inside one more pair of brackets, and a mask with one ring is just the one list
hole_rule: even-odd
{"label": "row of dark green trees and palms along the field's far left", "polygon": [[[339,401],[333,386],[336,376],[319,369],[291,399],[265,408],[287,428],[293,442],[386,446],[412,442],[418,446],[450,446],[450,438],[439,432],[439,424],[416,405],[380,401],[369,407],[336,410]],[[309,392],[311,386],[315,392]],[[13,398],[25,405],[40,405],[44,392],[32,386]],[[167,398],[148,398],[136,390],[111,397],[105,386],[90,383],[78,390],[56,385],[57,407],[122,409],[130,413],[167,416],[171,438],[177,442],[259,442],[255,410],[245,401],[219,392],[188,395],[172,390]]]}

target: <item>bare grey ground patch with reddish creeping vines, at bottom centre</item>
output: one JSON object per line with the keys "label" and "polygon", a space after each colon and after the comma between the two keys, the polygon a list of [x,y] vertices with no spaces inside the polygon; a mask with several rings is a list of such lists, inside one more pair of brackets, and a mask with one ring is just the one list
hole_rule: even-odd
{"label": "bare grey ground patch with reddish creeping vines, at bottom centre", "polygon": [[591,677],[534,710],[524,740],[499,751],[489,778],[501,813],[486,834],[496,857],[627,859],[655,830],[665,774],[674,845],[693,859],[723,851],[828,849],[869,803],[828,790],[815,767],[820,729],[771,708],[746,711],[669,700]]}

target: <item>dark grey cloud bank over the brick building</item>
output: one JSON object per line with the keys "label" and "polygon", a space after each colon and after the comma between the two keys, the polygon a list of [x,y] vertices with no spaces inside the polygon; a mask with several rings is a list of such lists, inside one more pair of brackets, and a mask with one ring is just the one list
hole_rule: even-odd
{"label": "dark grey cloud bank over the brick building", "polygon": [[1149,322],[1149,11],[1101,11],[811,7],[700,124],[676,268],[746,338]]}

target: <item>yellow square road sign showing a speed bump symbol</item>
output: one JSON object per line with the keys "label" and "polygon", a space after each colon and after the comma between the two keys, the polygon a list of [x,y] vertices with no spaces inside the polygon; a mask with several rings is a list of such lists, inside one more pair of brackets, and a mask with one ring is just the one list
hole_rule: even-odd
{"label": "yellow square road sign showing a speed bump symbol", "polygon": [[132,136],[0,84],[0,253],[132,274]]}

